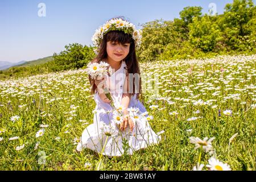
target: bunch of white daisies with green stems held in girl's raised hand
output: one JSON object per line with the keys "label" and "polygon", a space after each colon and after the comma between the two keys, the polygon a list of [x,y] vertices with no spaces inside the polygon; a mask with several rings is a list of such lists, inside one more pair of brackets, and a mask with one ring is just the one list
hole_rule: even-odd
{"label": "bunch of white daisies with green stems held in girl's raised hand", "polygon": [[[110,75],[112,74],[112,69],[109,64],[102,61],[100,63],[89,63],[85,71],[88,73],[88,75],[90,75],[92,79],[102,78],[105,75],[108,75],[108,72],[110,73]],[[110,94],[109,89],[106,88],[106,86],[104,87],[104,93],[106,97],[110,100],[110,105],[115,109],[113,98]]]}

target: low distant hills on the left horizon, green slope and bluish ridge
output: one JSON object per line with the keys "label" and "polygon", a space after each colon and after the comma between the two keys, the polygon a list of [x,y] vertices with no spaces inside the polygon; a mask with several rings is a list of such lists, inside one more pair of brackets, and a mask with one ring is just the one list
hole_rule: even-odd
{"label": "low distant hills on the left horizon, green slope and bluish ridge", "polygon": [[10,63],[8,61],[0,61],[0,70],[5,70],[11,67],[30,67],[33,65],[39,65],[39,64],[44,64],[47,63],[48,61],[52,61],[53,57],[48,56],[48,57],[43,57],[37,60],[32,60],[32,61],[19,61],[18,63]]}

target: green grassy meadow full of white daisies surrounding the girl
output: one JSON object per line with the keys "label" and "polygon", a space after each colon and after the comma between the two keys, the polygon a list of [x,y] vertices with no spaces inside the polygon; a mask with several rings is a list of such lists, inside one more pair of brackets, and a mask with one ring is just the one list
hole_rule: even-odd
{"label": "green grassy meadow full of white daisies surrounding the girl", "polygon": [[[162,140],[101,169],[256,170],[256,55],[140,66]],[[0,170],[96,170],[100,156],[76,150],[95,106],[84,69],[0,81]]]}

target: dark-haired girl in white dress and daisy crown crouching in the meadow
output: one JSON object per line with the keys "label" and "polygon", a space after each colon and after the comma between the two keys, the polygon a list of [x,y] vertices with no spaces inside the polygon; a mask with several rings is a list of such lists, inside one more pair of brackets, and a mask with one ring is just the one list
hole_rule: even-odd
{"label": "dark-haired girl in white dress and daisy crown crouching in the meadow", "polygon": [[[152,117],[138,100],[142,89],[135,48],[141,43],[141,32],[126,20],[115,18],[96,30],[92,40],[98,53],[92,63],[108,63],[112,75],[100,79],[89,76],[96,108],[93,124],[83,131],[77,151],[89,148],[103,155],[121,156],[158,143],[160,136],[148,123]],[[112,101],[104,88],[110,91]]]}

